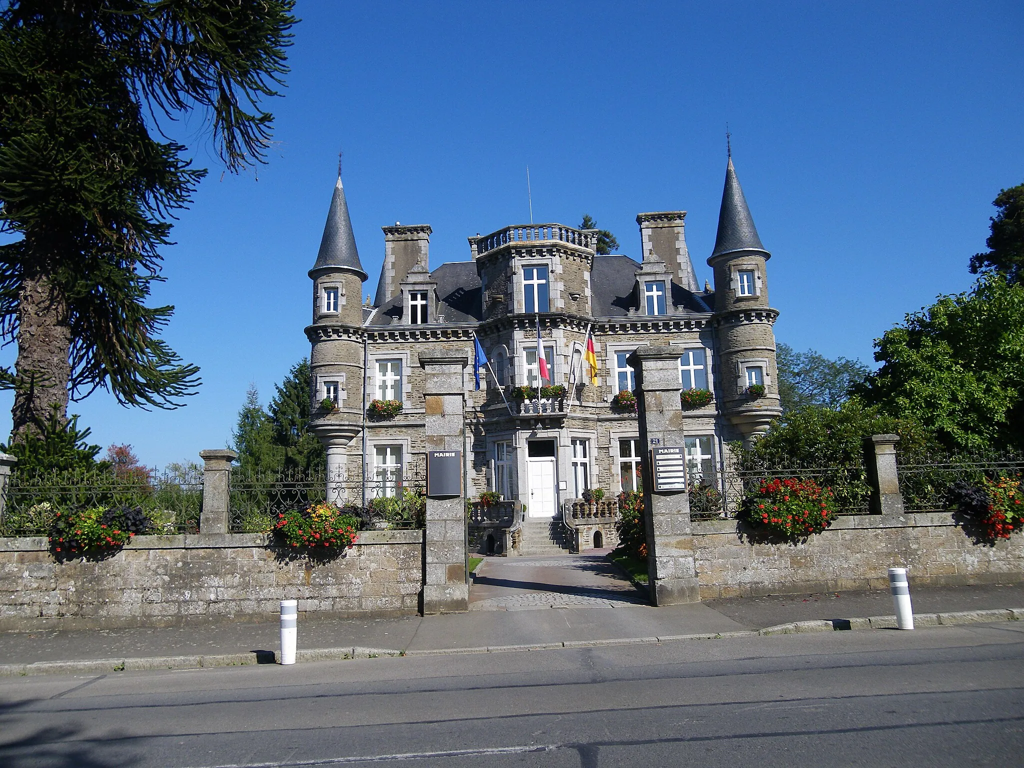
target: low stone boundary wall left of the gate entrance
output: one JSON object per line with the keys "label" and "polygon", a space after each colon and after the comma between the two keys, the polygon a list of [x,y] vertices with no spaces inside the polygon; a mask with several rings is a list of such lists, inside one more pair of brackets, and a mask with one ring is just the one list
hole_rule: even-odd
{"label": "low stone boundary wall left of the gate entrance", "polygon": [[323,560],[266,541],[145,536],[101,560],[57,562],[45,538],[0,539],[0,630],[268,621],[284,599],[334,617],[419,610],[422,530],[365,530],[344,556]]}

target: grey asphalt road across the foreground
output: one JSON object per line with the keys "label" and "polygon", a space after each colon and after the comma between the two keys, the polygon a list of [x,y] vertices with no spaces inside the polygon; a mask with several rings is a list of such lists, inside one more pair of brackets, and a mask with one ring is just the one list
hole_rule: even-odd
{"label": "grey asphalt road across the foreground", "polygon": [[1024,627],[0,681],[0,765],[1024,763]]}

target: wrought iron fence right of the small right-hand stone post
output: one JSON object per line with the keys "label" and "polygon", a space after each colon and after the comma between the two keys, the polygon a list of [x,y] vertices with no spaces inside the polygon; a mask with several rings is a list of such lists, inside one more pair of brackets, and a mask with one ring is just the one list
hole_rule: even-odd
{"label": "wrought iron fence right of the small right-hand stone post", "polygon": [[896,454],[899,490],[907,512],[946,512],[953,503],[950,489],[964,481],[981,485],[985,478],[1021,475],[1021,456],[913,456]]}

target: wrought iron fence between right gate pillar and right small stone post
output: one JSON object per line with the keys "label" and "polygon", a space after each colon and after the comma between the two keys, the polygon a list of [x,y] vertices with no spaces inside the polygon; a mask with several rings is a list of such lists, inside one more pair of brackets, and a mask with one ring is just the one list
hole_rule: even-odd
{"label": "wrought iron fence between right gate pillar and right small stone post", "polygon": [[766,481],[797,478],[814,480],[831,489],[837,513],[866,515],[869,513],[871,488],[862,464],[845,467],[803,467],[760,462],[734,463],[721,476],[702,481],[689,488],[690,518],[720,520],[736,516],[743,500],[753,497]]}

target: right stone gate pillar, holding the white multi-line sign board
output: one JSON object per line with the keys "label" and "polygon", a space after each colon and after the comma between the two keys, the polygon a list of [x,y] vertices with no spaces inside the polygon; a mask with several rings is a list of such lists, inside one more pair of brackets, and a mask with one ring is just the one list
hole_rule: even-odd
{"label": "right stone gate pillar, holding the white multi-line sign board", "polygon": [[685,489],[655,492],[650,450],[679,447],[683,410],[679,401],[679,355],[675,346],[641,346],[630,358],[636,371],[637,412],[643,463],[643,508],[647,527],[647,577],[654,605],[700,600],[690,503]]}

